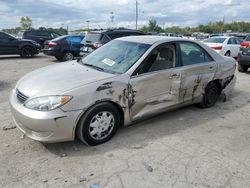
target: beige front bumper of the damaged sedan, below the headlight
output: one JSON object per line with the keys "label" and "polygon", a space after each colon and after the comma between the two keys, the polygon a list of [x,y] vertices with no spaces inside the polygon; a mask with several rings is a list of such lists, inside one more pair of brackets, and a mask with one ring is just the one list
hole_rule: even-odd
{"label": "beige front bumper of the damaged sedan, below the headlight", "polygon": [[29,138],[40,142],[62,142],[75,138],[75,127],[81,110],[64,112],[60,108],[52,111],[36,111],[24,107],[15,91],[10,94],[13,121]]}

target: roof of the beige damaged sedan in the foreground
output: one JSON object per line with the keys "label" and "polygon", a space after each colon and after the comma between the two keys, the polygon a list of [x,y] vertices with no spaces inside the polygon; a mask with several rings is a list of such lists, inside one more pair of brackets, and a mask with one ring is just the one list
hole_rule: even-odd
{"label": "roof of the beige damaged sedan in the foreground", "polygon": [[115,40],[122,40],[128,42],[137,42],[137,43],[144,43],[144,44],[154,44],[157,42],[173,42],[173,41],[190,41],[188,39],[183,39],[180,37],[168,37],[168,36],[156,36],[156,35],[140,35],[140,36],[128,36],[122,37]]}

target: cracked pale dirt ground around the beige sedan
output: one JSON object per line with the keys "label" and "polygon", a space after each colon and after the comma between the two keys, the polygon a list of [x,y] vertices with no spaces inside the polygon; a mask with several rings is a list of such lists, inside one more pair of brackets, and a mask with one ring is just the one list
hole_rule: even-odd
{"label": "cracked pale dirt ground around the beige sedan", "polygon": [[[108,143],[42,144],[13,128],[8,95],[53,57],[0,57],[0,187],[250,187],[250,74],[227,102],[189,106],[122,128]],[[12,129],[4,129],[9,127]]]}

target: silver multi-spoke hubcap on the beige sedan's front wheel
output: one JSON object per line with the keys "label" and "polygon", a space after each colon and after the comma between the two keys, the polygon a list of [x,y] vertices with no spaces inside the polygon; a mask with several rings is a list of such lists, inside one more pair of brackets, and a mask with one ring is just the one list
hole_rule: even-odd
{"label": "silver multi-spoke hubcap on the beige sedan's front wheel", "polygon": [[90,121],[89,134],[95,140],[102,140],[110,135],[114,125],[113,114],[107,111],[99,112]]}

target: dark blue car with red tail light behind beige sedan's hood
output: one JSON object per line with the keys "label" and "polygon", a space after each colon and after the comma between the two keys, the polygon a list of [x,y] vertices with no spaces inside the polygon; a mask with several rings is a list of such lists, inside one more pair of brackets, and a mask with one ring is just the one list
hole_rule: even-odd
{"label": "dark blue car with red tail light behind beige sedan's hood", "polygon": [[72,60],[74,57],[79,57],[83,39],[84,35],[64,35],[51,41],[46,41],[43,53],[54,56],[58,60]]}

